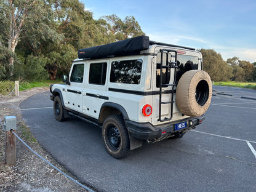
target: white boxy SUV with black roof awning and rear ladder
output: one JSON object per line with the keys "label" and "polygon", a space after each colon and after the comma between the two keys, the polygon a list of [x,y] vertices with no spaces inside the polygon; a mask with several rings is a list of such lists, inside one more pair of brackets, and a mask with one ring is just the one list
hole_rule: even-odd
{"label": "white boxy SUV with black roof awning and rear ladder", "polygon": [[108,153],[124,158],[142,141],[181,138],[205,119],[212,85],[190,47],[126,39],[78,51],[65,84],[50,86],[58,121],[102,126]]}

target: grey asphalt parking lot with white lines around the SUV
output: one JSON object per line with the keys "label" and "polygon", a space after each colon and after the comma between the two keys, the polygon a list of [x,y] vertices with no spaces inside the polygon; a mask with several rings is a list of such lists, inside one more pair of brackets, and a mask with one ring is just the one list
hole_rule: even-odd
{"label": "grey asphalt parking lot with white lines around the SUV", "polygon": [[145,142],[121,160],[105,151],[100,127],[77,118],[56,121],[50,92],[20,108],[38,142],[97,191],[256,191],[256,91],[213,89],[206,120],[195,130]]}

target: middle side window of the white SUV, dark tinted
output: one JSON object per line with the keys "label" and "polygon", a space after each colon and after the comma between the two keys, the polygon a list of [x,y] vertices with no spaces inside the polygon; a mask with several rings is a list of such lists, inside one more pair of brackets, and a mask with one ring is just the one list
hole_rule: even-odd
{"label": "middle side window of the white SUV, dark tinted", "polygon": [[106,63],[90,63],[89,83],[105,85]]}

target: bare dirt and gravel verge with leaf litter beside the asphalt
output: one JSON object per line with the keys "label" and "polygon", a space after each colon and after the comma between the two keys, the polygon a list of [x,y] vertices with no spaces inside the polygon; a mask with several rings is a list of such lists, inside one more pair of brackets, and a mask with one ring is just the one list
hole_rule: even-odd
{"label": "bare dirt and gravel verge with leaf litter beside the asphalt", "polygon": [[[36,153],[47,159],[54,166],[70,175],[65,167],[58,164],[49,153],[36,141],[25,122],[22,121],[19,105],[26,98],[49,90],[46,88],[34,88],[20,92],[19,97],[10,96],[0,98],[0,119],[4,124],[4,117],[14,115],[17,118],[17,135],[22,138]],[[87,191],[81,186],[72,182],[57,170],[50,167],[38,156],[34,155],[26,146],[16,139],[16,159],[15,166],[7,166],[5,162],[5,132],[0,126],[0,191]],[[76,178],[73,177],[75,180]]]}

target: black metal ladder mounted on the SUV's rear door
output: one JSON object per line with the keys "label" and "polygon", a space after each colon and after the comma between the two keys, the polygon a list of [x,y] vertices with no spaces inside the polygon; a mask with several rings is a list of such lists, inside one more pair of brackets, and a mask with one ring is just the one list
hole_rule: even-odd
{"label": "black metal ladder mounted on the SUV's rear door", "polygon": [[[168,57],[169,57],[169,53],[170,52],[174,52],[174,54],[175,54],[175,61],[174,62],[172,62],[172,59],[170,60],[171,62],[169,62]],[[163,54],[164,53],[167,53],[165,65],[163,63]],[[174,68],[174,82],[172,82],[172,84],[163,84],[162,83],[162,69],[163,68],[166,68],[166,73],[168,73],[169,69]],[[160,65],[159,119],[158,119],[158,121],[161,121],[161,122],[169,121],[169,120],[172,119],[173,108],[174,108],[174,87],[177,86],[177,84],[175,83],[177,68],[178,68],[178,66],[177,66],[177,51],[176,50],[172,50],[172,49],[162,49],[161,50],[161,65]],[[172,91],[171,91],[172,97],[171,97],[171,100],[169,102],[162,102],[162,87],[169,87],[169,86],[172,86]],[[164,93],[166,93],[166,92],[164,92]],[[161,119],[162,105],[168,105],[168,104],[170,104],[170,118]]]}

